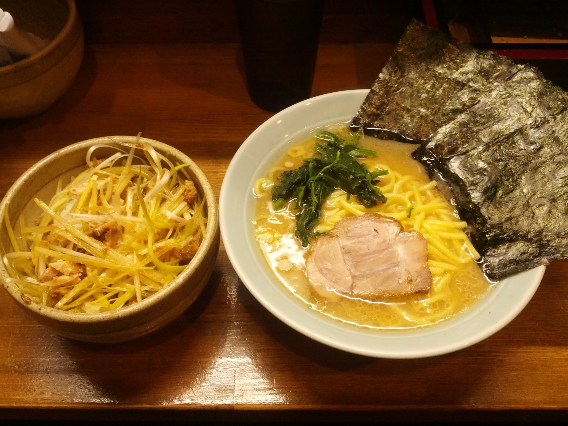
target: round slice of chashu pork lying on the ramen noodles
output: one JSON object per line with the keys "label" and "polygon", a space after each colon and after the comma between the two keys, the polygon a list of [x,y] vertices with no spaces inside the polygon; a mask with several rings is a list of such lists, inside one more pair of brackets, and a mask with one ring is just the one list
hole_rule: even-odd
{"label": "round slice of chashu pork lying on the ramen noodles", "polygon": [[311,244],[306,272],[316,293],[378,299],[428,293],[432,274],[419,232],[398,220],[365,214],[337,222]]}

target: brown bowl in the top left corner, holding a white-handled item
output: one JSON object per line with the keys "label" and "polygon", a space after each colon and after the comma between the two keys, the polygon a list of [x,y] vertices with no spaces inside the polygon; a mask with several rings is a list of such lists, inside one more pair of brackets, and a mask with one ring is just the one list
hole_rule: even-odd
{"label": "brown bowl in the top left corner, holding a white-handled item", "polygon": [[0,67],[0,119],[26,117],[49,108],[70,86],[83,57],[83,29],[74,0],[0,0],[16,25],[46,47]]}

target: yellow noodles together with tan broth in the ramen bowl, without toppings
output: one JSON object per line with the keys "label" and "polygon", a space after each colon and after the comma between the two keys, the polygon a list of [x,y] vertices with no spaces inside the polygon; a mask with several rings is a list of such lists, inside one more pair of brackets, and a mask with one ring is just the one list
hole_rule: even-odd
{"label": "yellow noodles together with tan broth in the ramen bowl, without toppings", "polygon": [[[345,139],[354,135],[346,126],[327,130]],[[321,141],[319,141],[321,143]],[[289,148],[268,175],[256,181],[257,198],[253,220],[256,240],[279,281],[310,308],[331,318],[361,327],[400,329],[423,327],[451,318],[477,302],[491,286],[475,261],[479,254],[471,245],[454,206],[430,181],[423,166],[412,159],[417,145],[363,136],[358,147],[377,152],[377,157],[359,158],[370,172],[388,170],[376,185],[387,197],[385,203],[366,208],[357,196],[336,190],[321,207],[316,233],[331,231],[349,216],[378,213],[399,220],[406,232],[420,232],[428,245],[428,268],[432,285],[427,294],[390,298],[361,298],[333,291],[316,291],[306,274],[310,247],[302,247],[296,231],[294,199],[275,209],[272,190],[283,170],[298,168],[304,158],[318,156],[314,136]],[[315,237],[319,238],[319,237]],[[311,239],[314,241],[314,238]]]}

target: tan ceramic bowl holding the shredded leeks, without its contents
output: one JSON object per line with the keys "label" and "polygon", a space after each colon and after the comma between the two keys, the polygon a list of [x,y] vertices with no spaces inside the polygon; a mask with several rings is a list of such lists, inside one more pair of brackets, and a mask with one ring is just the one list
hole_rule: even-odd
{"label": "tan ceramic bowl holding the shredded leeks, without its contents", "polygon": [[[112,139],[132,142],[134,136],[113,136]],[[116,311],[82,314],[65,312],[30,302],[15,283],[9,281],[5,265],[0,261],[0,282],[10,296],[28,315],[60,335],[71,339],[115,343],[132,340],[144,336],[168,324],[186,310],[197,298],[211,276],[217,253],[219,251],[219,219],[214,191],[199,167],[185,154],[161,142],[140,138],[140,141],[151,144],[170,161],[189,164],[188,173],[193,179],[199,193],[205,198],[207,211],[207,231],[195,257],[168,287],[158,291],[139,303],[120,308]],[[107,137],[98,137],[82,141],[43,158],[27,170],[8,190],[0,203],[0,218],[7,210],[12,225],[20,214],[24,217],[37,217],[33,211],[34,197],[49,202],[55,193],[55,185],[60,176],[69,177],[73,169],[85,165],[87,150],[96,144],[115,145]],[[98,148],[97,156],[106,156],[108,152],[116,152],[111,148]],[[69,179],[69,178],[68,178]],[[67,182],[63,181],[64,185]],[[0,225],[0,258],[10,249],[6,226]]]}

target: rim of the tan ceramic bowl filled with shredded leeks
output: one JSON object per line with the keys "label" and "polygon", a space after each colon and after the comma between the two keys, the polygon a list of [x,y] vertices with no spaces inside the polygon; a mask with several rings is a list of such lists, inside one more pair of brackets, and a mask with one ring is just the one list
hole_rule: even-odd
{"label": "rim of the tan ceramic bowl filled with shredded leeks", "polygon": [[[112,139],[119,141],[119,142],[133,142],[136,140],[136,136],[111,136]],[[212,244],[215,242],[215,235],[217,228],[219,227],[219,216],[218,216],[218,209],[217,209],[217,201],[215,198],[215,193],[211,187],[211,183],[208,181],[205,174],[199,168],[197,164],[191,158],[189,158],[186,154],[179,151],[176,148],[171,147],[170,145],[164,144],[157,140],[147,139],[145,137],[139,138],[140,143],[148,143],[152,145],[154,149],[157,149],[161,153],[168,154],[171,157],[175,157],[180,164],[188,164],[191,172],[197,178],[197,181],[203,188],[203,195],[206,199],[206,206],[207,206],[207,229],[205,235],[203,236],[203,241],[197,250],[195,256],[191,259],[189,264],[187,264],[186,268],[183,269],[179,275],[173,279],[173,281],[165,288],[157,291],[156,293],[148,296],[147,298],[141,300],[138,303],[132,304],[130,306],[125,306],[120,308],[116,311],[106,311],[106,312],[94,312],[94,313],[82,313],[82,312],[66,312],[60,311],[55,308],[50,308],[44,306],[43,304],[31,302],[30,304],[24,303],[21,300],[22,292],[18,289],[14,283],[8,281],[10,278],[9,273],[6,270],[4,262],[0,260],[0,279],[5,287],[5,289],[10,293],[12,298],[16,300],[16,302],[20,303],[22,306],[36,312],[39,315],[46,316],[51,319],[59,320],[59,321],[73,321],[73,322],[105,322],[105,321],[112,321],[118,318],[124,318],[132,315],[136,315],[140,311],[145,310],[146,308],[153,306],[157,303],[160,303],[162,299],[168,296],[179,286],[182,286],[185,279],[189,277],[191,274],[194,273],[197,266],[201,264],[203,258],[206,256],[207,252],[210,250]],[[112,143],[109,141],[108,137],[96,137],[94,139],[88,139],[81,142],[74,143],[72,145],[68,145],[67,147],[61,148],[47,157],[42,158],[40,161],[36,162],[33,166],[31,166],[26,172],[22,174],[10,187],[7,191],[6,195],[0,202],[0,222],[2,222],[2,227],[4,227],[4,212],[8,208],[11,200],[16,197],[19,193],[20,189],[24,185],[26,185],[26,181],[32,177],[35,173],[37,173],[43,166],[57,162],[61,156],[65,154],[69,154],[74,151],[81,151],[86,150],[93,145],[98,144],[106,144],[106,145],[116,145],[118,144]],[[62,173],[65,173],[62,172]],[[11,221],[13,220],[10,219]]]}

